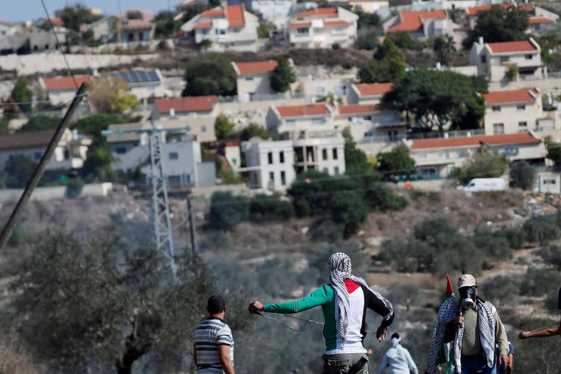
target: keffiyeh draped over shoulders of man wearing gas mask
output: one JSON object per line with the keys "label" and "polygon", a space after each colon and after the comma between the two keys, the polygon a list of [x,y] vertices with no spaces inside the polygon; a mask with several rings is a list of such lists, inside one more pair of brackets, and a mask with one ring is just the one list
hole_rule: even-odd
{"label": "keffiyeh draped over shoulders of man wearing gas mask", "polygon": [[[438,309],[438,316],[436,319],[436,326],[433,334],[433,341],[431,342],[431,350],[428,352],[428,360],[426,363],[426,372],[434,374],[438,361],[438,352],[444,340],[446,325],[453,319],[459,316],[461,312],[461,305],[456,302],[456,298],[452,295],[451,298],[445,300]],[[495,323],[493,316],[496,312],[494,305],[490,302],[484,302],[478,299],[478,324],[479,334],[481,339],[481,346],[485,352],[487,359],[487,366],[493,367],[494,349],[495,349]],[[464,337],[464,326],[457,330],[456,336],[452,343],[445,345],[445,356],[448,359],[448,352],[450,352],[450,344],[454,349],[454,357],[452,359],[453,373],[461,373],[461,339]]]}

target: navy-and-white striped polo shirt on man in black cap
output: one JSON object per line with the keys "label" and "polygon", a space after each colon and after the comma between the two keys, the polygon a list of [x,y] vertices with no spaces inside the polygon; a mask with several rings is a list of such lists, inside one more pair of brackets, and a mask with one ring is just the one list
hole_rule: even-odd
{"label": "navy-and-white striped polo shirt on man in black cap", "polygon": [[234,338],[232,331],[223,319],[208,317],[193,335],[197,352],[198,374],[222,374],[222,365],[218,357],[218,346],[230,346],[230,359],[234,362]]}

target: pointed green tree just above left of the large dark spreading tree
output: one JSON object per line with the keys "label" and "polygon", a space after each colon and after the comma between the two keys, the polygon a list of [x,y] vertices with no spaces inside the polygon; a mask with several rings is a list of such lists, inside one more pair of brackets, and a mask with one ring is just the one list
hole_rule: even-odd
{"label": "pointed green tree just above left of the large dark spreading tree", "polygon": [[392,39],[384,39],[374,53],[372,60],[358,63],[358,79],[361,83],[388,82],[405,75],[405,58],[393,43]]}

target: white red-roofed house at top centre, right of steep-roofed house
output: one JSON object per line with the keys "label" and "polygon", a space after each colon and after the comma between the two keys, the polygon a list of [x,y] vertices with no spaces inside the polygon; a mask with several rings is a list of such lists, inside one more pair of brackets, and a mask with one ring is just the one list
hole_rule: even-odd
{"label": "white red-roofed house at top centre, right of steep-roofed house", "polygon": [[296,48],[347,48],[356,39],[358,15],[344,8],[316,8],[290,17],[288,37]]}

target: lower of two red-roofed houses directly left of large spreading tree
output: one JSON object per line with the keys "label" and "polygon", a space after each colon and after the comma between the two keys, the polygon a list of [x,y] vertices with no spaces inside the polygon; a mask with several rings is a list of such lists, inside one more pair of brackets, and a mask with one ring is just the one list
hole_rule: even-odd
{"label": "lower of two red-roofed houses directly left of large spreading tree", "polygon": [[393,142],[405,138],[407,125],[398,111],[388,105],[352,104],[337,108],[336,120],[346,135],[356,142],[380,140]]}

